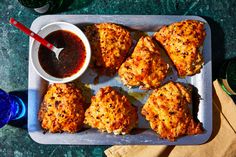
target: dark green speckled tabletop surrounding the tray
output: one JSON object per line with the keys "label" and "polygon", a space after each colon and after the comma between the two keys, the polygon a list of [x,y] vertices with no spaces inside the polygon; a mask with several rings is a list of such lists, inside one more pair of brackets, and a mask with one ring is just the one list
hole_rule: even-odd
{"label": "dark green speckled tabletop surrounding the tray", "polygon": [[[212,31],[213,80],[222,63],[236,57],[235,0],[74,0],[58,14],[133,14],[198,15]],[[14,17],[30,26],[40,15],[21,6],[17,0],[0,1],[0,88],[27,91],[28,40],[8,20]],[[27,129],[6,125],[0,129],[0,156],[104,156],[109,146],[40,145],[29,137]]]}

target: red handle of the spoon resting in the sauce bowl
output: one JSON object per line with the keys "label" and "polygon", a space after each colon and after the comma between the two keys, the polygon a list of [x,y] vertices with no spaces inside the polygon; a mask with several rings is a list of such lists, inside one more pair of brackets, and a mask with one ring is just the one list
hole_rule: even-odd
{"label": "red handle of the spoon resting in the sauce bowl", "polygon": [[48,41],[46,41],[45,39],[43,39],[38,34],[36,34],[33,31],[31,31],[29,28],[25,27],[23,24],[21,24],[20,22],[16,21],[14,18],[10,18],[9,22],[10,22],[10,24],[12,24],[16,28],[18,28],[19,30],[21,30],[22,32],[27,34],[28,36],[30,36],[30,37],[34,38],[35,40],[37,40],[38,42],[40,42],[45,47],[47,47],[47,48],[49,48],[51,50],[53,49],[53,47],[54,47],[53,44],[51,44]]}

